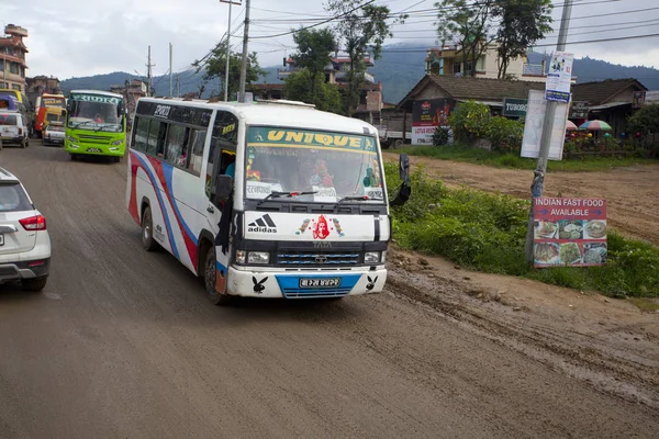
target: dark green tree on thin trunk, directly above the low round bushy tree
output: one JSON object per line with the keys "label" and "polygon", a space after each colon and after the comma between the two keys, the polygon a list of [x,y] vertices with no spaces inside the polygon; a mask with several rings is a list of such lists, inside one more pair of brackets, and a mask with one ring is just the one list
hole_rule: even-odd
{"label": "dark green tree on thin trunk, directly above the low round bushy tree", "polygon": [[293,34],[298,52],[292,56],[295,66],[309,71],[311,94],[315,93],[316,79],[324,77],[325,67],[336,50],[336,40],[330,29],[301,29]]}

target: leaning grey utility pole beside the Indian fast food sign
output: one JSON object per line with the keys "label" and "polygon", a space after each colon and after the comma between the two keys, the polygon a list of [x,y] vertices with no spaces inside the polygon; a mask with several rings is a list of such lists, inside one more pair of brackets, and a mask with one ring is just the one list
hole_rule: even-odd
{"label": "leaning grey utility pole beside the Indian fast food sign", "polygon": [[[558,33],[558,43],[556,52],[565,52],[570,27],[570,16],[572,15],[572,2],[566,0],[563,12],[560,19],[560,30]],[[547,112],[543,123],[543,136],[540,137],[540,151],[538,154],[538,165],[534,171],[533,183],[530,184],[530,213],[528,214],[528,230],[526,233],[526,260],[533,261],[533,230],[534,230],[534,207],[535,200],[543,196],[545,185],[545,173],[547,172],[547,160],[549,159],[549,148],[551,146],[551,132],[554,131],[554,119],[556,110],[560,103],[557,101],[547,101]]]}

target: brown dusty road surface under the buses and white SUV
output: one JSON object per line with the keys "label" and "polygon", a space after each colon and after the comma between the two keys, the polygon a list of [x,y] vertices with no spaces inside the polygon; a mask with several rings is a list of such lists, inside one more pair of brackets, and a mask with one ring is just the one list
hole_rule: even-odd
{"label": "brown dusty road surface under the buses and white SUV", "polygon": [[0,438],[656,437],[656,410],[394,292],[211,306],[124,207],[125,164],[5,148],[47,217],[42,294],[0,291]]}

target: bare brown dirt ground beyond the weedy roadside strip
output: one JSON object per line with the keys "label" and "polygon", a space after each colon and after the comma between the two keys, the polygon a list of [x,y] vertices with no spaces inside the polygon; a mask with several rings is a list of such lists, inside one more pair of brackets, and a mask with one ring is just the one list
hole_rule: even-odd
{"label": "bare brown dirt ground beyond the weedy roadside strip", "polygon": [[[386,153],[386,157],[398,160],[394,153]],[[532,171],[427,157],[411,157],[411,164],[423,164],[449,185],[465,184],[483,191],[530,198]],[[605,198],[611,226],[624,235],[659,246],[659,165],[615,168],[607,172],[548,172],[544,194]]]}

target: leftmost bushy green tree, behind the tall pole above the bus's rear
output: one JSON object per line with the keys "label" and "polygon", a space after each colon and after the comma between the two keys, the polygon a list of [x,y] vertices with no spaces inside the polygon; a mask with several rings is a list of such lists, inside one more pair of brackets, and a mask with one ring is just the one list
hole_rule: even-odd
{"label": "leftmost bushy green tree, behind the tall pole above the bus's rear", "polygon": [[[237,52],[230,52],[228,58],[228,95],[232,97],[238,92],[239,79],[241,79],[241,60],[243,55]],[[226,80],[226,45],[224,43],[217,44],[203,59],[196,60],[192,64],[198,70],[203,69],[205,81],[212,81],[222,79],[222,85]],[[256,82],[260,77],[266,76],[266,71],[258,64],[256,52],[253,52],[247,57],[247,77],[245,80],[246,85]],[[223,88],[219,87],[217,95],[223,93]],[[231,98],[230,98],[231,99]]]}

